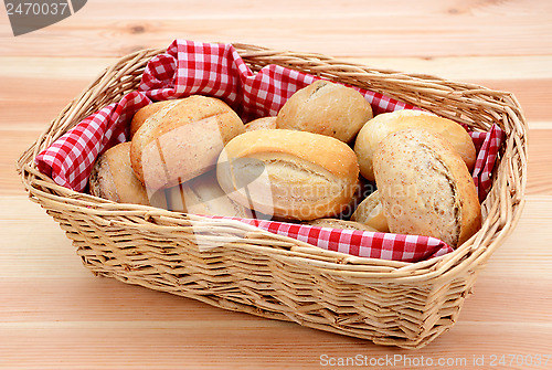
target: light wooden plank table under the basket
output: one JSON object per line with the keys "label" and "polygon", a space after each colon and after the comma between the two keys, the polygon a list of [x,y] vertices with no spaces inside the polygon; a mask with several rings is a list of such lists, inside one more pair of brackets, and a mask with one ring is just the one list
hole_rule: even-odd
{"label": "light wooden plank table under the basket", "polygon": [[[429,368],[438,359],[448,369],[475,368],[474,359],[492,369],[552,368],[552,358],[543,366],[552,355],[551,1],[96,0],[17,38],[0,14],[0,369],[328,368],[355,356],[364,368],[428,359]],[[104,67],[174,38],[319,52],[516,94],[529,121],[527,205],[450,331],[421,350],[381,347],[82,266],[56,223],[26,199],[14,162]],[[542,364],[528,366],[529,355]],[[400,362],[380,360],[389,358]]]}

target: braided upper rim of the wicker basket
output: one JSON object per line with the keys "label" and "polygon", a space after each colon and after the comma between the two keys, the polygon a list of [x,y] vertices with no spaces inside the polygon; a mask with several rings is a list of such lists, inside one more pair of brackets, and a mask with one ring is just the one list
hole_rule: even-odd
{"label": "braided upper rim of the wicker basket", "polygon": [[[455,82],[437,76],[407,74],[390,70],[378,70],[368,67],[362,64],[339,61],[337,59],[322,54],[275,51],[264,46],[243,43],[233,43],[232,45],[234,45],[238,54],[248,65],[253,65],[253,63],[257,63],[256,65],[262,65],[263,63],[279,65],[285,64],[285,66],[294,68],[295,64],[297,64],[295,62],[307,61],[309,65],[314,65],[315,68],[318,68],[319,76],[325,76],[327,74],[327,70],[323,70],[320,65],[329,65],[332,68],[338,68],[339,73],[349,74],[350,76],[352,76],[352,78],[362,78],[367,75],[375,75],[378,78],[383,76],[383,78],[392,78],[393,81],[399,81],[400,83],[405,84],[410,87],[420,86],[421,84],[424,86],[429,86],[434,88],[437,94],[449,94],[452,84],[455,84]],[[51,121],[50,126],[46,127],[45,130],[39,136],[39,138],[21,155],[18,160],[18,171],[21,175],[23,186],[28,191],[31,200],[41,203],[41,205],[46,209],[49,205],[57,203],[57,205],[71,205],[72,209],[88,212],[99,216],[102,216],[102,214],[139,214],[144,218],[144,220],[156,216],[166,216],[172,220],[180,221],[190,220],[190,218],[193,220],[206,219],[198,215],[189,215],[179,212],[161,210],[149,205],[115,203],[86,193],[76,192],[54,183],[52,179],[44,176],[36,169],[34,162],[40,148],[45,147],[45,144],[52,142],[56,138],[56,135],[52,135],[53,130],[57,129],[55,134],[57,134],[57,136],[61,136],[60,131],[65,133],[72,127],[72,125],[74,126],[79,121],[79,119],[74,119],[75,110],[72,110],[76,104],[78,104],[83,99],[88,99],[91,97],[91,92],[92,95],[94,95],[95,92],[100,92],[109,82],[113,81],[114,77],[120,77],[121,75],[124,75],[124,73],[129,68],[132,68],[138,61],[144,64],[145,61],[149,61],[150,57],[163,52],[166,52],[166,49],[144,49],[141,51],[127,54],[113,63],[110,66],[106,67],[105,71],[102,72],[95,81],[86,86],[83,92],[77,97],[75,97],[59,114],[56,118]],[[316,63],[319,63],[320,65],[317,65]],[[305,70],[299,71],[305,72]],[[339,75],[339,73],[337,74]],[[429,278],[433,281],[449,281],[465,273],[466,271],[475,269],[477,266],[485,265],[493,251],[513,231],[513,228],[516,226],[523,209],[524,188],[527,181],[527,176],[523,176],[527,173],[527,123],[521,106],[517,102],[513,94],[508,92],[495,92],[476,84],[457,84],[460,92],[469,93],[470,91],[479,92],[482,89],[484,92],[492,92],[492,94],[501,95],[505,98],[508,98],[509,102],[506,105],[506,115],[513,115],[517,117],[511,127],[509,127],[508,129],[505,129],[506,127],[502,127],[507,135],[508,142],[505,142],[505,156],[502,156],[502,158],[497,158],[500,166],[496,165],[496,168],[493,170],[493,172],[498,172],[498,167],[503,167],[502,173],[500,176],[496,176],[496,179],[492,181],[491,191],[493,191],[493,189],[499,186],[508,190],[508,180],[512,176],[518,176],[520,180],[520,182],[517,183],[519,189],[516,189],[519,190],[519,192],[514,193],[514,198],[511,194],[508,194],[506,190],[496,195],[496,202],[502,201],[499,210],[500,223],[493,222],[493,224],[491,225],[491,222],[487,218],[487,220],[484,220],[484,228],[481,228],[481,230],[479,230],[471,239],[469,239],[458,249],[446,255],[421,262],[407,263],[379,258],[354,257],[340,252],[328,253],[329,251],[318,249],[304,242],[296,243],[298,246],[296,249],[290,249],[288,253],[289,256],[308,260],[311,258],[309,257],[309,254],[312,254],[312,257],[315,258],[316,256],[323,255],[325,257],[333,258],[335,262],[328,263],[320,268],[338,271],[342,272],[344,275],[354,275],[355,277],[378,278],[382,282],[401,281],[403,283],[414,283],[426,281]],[[388,96],[394,97],[393,94],[389,94],[389,92],[384,93]],[[67,119],[67,117],[72,119]],[[506,119],[506,117],[503,119]],[[61,121],[63,121],[65,126],[62,125],[62,128],[60,129],[57,126]],[[512,166],[510,162],[506,165],[502,163],[505,160],[511,160],[511,156],[508,156],[508,150],[513,150],[512,148],[519,149],[518,156],[520,158],[518,161],[521,162],[521,173],[509,173],[510,177],[507,177],[506,171],[511,171]],[[489,195],[487,198],[489,198]],[[495,203],[495,205],[496,204],[498,203]],[[508,204],[510,205],[510,209],[508,209]],[[512,211],[513,205],[516,205],[516,209]],[[208,220],[215,223],[223,222],[213,219]],[[286,241],[286,236],[276,235],[263,231],[258,228],[246,225],[244,223],[241,224],[247,228],[256,229],[257,232],[266,234],[266,236],[268,237]],[[296,240],[293,241],[298,242]],[[301,243],[304,243],[305,245]],[[484,243],[488,243],[488,245],[485,246],[482,245]],[[274,247],[266,247],[265,252],[274,253]],[[294,252],[294,250],[299,251],[300,253]],[[302,255],[305,253],[306,255]]]}

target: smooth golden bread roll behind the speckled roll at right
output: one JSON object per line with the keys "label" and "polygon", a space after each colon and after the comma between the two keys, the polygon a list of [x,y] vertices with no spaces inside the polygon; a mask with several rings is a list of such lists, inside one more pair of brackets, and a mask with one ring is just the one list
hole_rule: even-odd
{"label": "smooth golden bread roll behind the speckled roll at right", "polygon": [[443,135],[460,154],[469,171],[476,162],[476,148],[468,133],[454,120],[437,117],[431,113],[403,109],[383,113],[370,119],[360,130],[354,141],[354,152],[359,158],[360,173],[373,181],[372,158],[380,141],[389,134],[405,128],[423,128]]}

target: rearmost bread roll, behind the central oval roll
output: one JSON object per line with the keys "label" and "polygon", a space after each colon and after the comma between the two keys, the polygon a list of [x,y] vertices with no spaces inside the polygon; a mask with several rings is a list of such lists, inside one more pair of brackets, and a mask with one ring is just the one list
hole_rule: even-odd
{"label": "rearmost bread roll, behind the central oval roll", "polygon": [[351,141],[372,118],[372,107],[358,91],[319,80],[297,91],[276,118],[277,128],[297,129]]}

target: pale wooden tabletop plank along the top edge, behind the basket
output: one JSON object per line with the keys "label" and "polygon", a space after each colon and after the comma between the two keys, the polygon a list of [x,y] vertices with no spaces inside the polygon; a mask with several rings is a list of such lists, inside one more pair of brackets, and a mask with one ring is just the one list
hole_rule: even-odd
{"label": "pale wooden tabletop plank along the top edge, behind the basket", "polygon": [[288,4],[267,9],[244,2],[229,10],[222,1],[210,1],[192,8],[194,12],[176,2],[151,11],[142,2],[134,11],[151,15],[125,18],[125,6],[112,11],[112,3],[89,2],[60,23],[7,39],[0,54],[120,56],[166,46],[177,36],[357,57],[545,55],[552,49],[548,1],[425,2],[426,8],[405,0],[382,8],[360,1]]}

